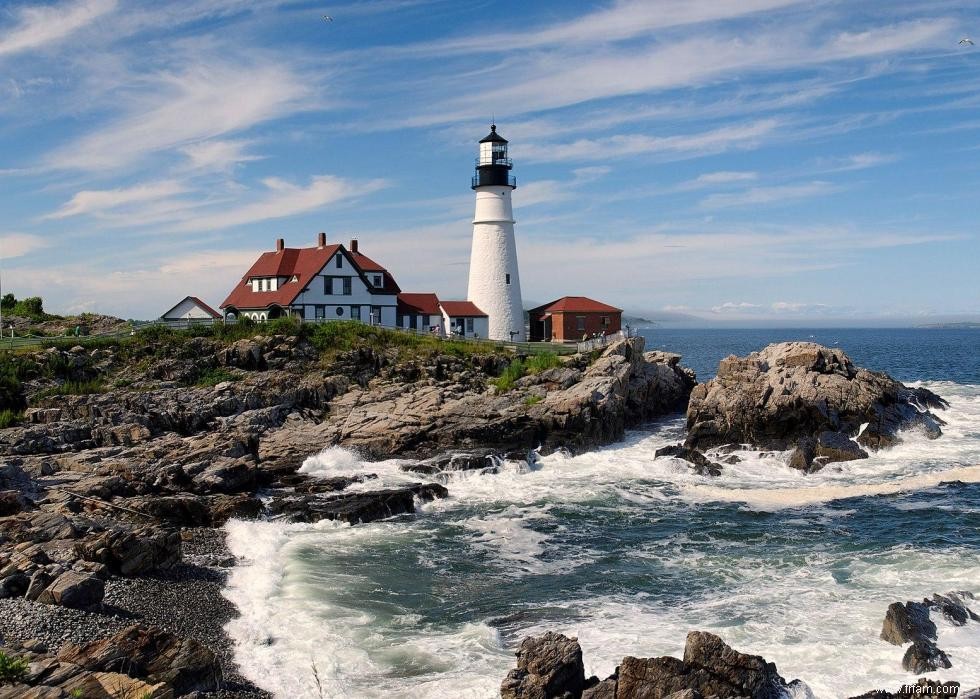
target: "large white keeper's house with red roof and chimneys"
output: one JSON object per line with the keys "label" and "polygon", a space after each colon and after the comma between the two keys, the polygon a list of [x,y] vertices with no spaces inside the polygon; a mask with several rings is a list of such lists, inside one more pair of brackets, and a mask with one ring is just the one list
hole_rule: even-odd
{"label": "large white keeper's house with red roof and chimneys", "polygon": [[264,252],[221,304],[226,318],[264,321],[360,320],[395,327],[400,289],[387,269],[349,247],[327,244],[287,248],[282,238]]}

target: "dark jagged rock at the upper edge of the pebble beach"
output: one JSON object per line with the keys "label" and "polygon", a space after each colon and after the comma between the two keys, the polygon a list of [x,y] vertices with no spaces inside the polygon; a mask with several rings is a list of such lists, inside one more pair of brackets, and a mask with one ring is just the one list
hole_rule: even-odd
{"label": "dark jagged rock at the upper edge of the pebble beach", "polygon": [[76,544],[78,555],[120,575],[144,575],[181,560],[180,534],[156,527],[110,529]]}

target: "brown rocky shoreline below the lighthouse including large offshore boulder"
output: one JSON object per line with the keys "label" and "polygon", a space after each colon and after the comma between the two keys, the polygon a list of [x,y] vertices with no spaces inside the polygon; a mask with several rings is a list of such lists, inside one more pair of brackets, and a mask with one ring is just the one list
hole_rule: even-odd
{"label": "brown rocky shoreline below the lighthouse including large offshore boulder", "polygon": [[[0,697],[81,686],[113,696],[106,683],[151,697],[265,696],[223,630],[234,561],[220,527],[232,517],[411,513],[449,494],[442,474],[583,451],[685,407],[688,442],[664,456],[709,476],[723,465],[707,446],[737,459],[746,446],[815,440],[811,471],[841,460],[819,452],[824,433],[840,452],[864,434],[877,449],[910,426],[940,433],[938,396],[808,343],[730,358],[695,388],[678,355],[644,352],[640,338],[596,356],[527,358],[530,369],[497,352],[406,356],[397,337],[341,352],[314,340],[178,336],[17,358],[19,393],[5,399],[29,407],[25,424],[0,430],[0,652],[29,662]],[[873,429],[856,434],[868,418]],[[298,472],[330,445],[400,457],[425,482],[370,488],[370,474]]]}

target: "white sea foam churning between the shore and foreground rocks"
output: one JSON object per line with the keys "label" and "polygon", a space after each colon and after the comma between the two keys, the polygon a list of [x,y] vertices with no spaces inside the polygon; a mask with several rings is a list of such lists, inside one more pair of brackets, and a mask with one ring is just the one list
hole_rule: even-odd
{"label": "white sea foam churning between the shore and foreground rocks", "polygon": [[[846,529],[862,505],[843,509],[834,500],[977,482],[980,387],[929,387],[951,402],[941,413],[948,423],[941,439],[909,433],[894,449],[809,476],[790,469],[786,454],[740,453],[743,461],[725,465],[718,478],[698,476],[675,459],[655,460],[657,448],[682,438],[683,423],[674,420],[614,447],[544,457],[533,470],[512,462],[497,475],[454,474],[450,497],[425,504],[412,521],[355,527],[231,522],[229,545],[240,565],[227,595],[242,613],[229,624],[238,662],[250,679],[282,697],[317,696],[314,664],[325,697],[492,697],[513,665],[507,646],[525,633],[578,635],[587,671],[602,677],[624,655],[680,655],[686,633],[703,629],[774,661],[782,675],[805,680],[821,699],[895,690],[911,676],[901,669],[904,650],[878,638],[888,603],[950,589],[980,592],[980,552],[892,546],[853,553],[824,541],[813,542],[805,555],[784,549],[773,556],[758,544],[709,541],[684,529],[629,550],[626,563],[640,581],[629,591],[582,590],[536,601],[520,595],[536,576],[560,579],[594,559],[587,547],[567,545],[567,528],[575,525],[562,513],[575,508],[593,517],[627,508],[669,524],[706,503],[734,501],[753,511],[801,508],[798,518],[792,513],[780,520],[786,526],[839,522]],[[393,484],[426,479],[401,471],[402,463],[365,463],[331,448],[308,459],[303,471],[376,473]],[[906,512],[946,506],[939,495],[892,504]],[[435,539],[443,542],[438,550],[429,546]],[[407,569],[397,567],[406,564],[395,554],[407,556]],[[484,575],[514,591],[513,608],[494,614],[529,614],[527,621],[518,615],[508,623],[506,639],[493,626],[494,614],[456,614],[479,600],[467,597],[465,574],[454,581],[440,574],[471,561],[485,563],[480,570],[492,572]],[[636,577],[647,567],[666,577]],[[413,594],[433,595],[431,604],[378,592],[391,587],[384,576],[423,571],[428,587]],[[687,579],[711,584],[694,597],[663,601],[668,583],[683,587]],[[438,613],[430,614],[434,609]],[[539,613],[530,614],[535,609]],[[440,614],[448,620],[437,621]],[[939,631],[953,669],[928,676],[980,685],[980,624],[954,628],[940,621]]]}

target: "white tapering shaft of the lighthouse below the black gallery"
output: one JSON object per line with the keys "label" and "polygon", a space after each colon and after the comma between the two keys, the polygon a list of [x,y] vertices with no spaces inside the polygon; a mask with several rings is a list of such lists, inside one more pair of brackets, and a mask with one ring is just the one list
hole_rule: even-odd
{"label": "white tapering shaft of the lighthouse below the black gallery", "polygon": [[524,342],[511,191],[508,186],[476,189],[467,298],[489,316],[491,340]]}

